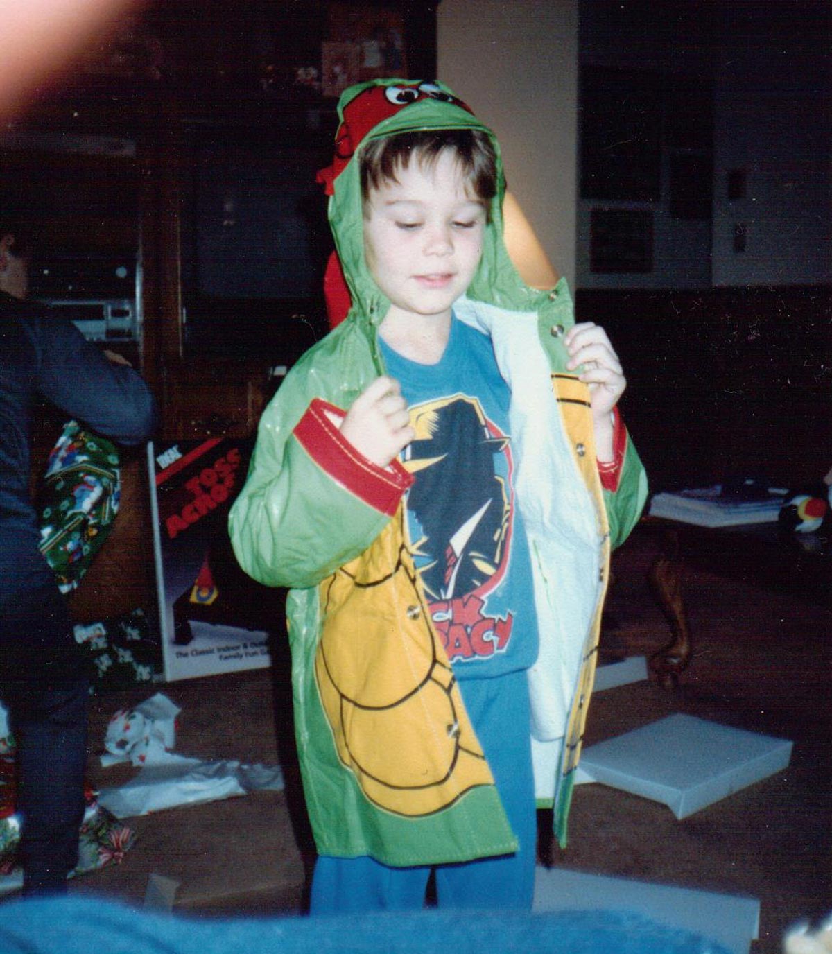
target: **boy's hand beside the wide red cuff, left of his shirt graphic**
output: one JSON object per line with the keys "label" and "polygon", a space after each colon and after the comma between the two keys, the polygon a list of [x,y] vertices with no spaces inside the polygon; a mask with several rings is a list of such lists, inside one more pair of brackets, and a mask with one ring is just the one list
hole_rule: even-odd
{"label": "boy's hand beside the wide red cuff, left of his shirt graphic", "polygon": [[386,467],[416,436],[398,381],[376,378],[347,411],[341,433],[368,461]]}

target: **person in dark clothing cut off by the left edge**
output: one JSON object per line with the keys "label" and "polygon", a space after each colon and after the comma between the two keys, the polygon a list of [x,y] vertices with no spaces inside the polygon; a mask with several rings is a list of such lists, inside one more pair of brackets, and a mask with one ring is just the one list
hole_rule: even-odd
{"label": "person in dark clothing cut off by the left edge", "polygon": [[38,549],[31,418],[46,398],[116,443],[148,439],[156,404],[127,364],[23,301],[28,248],[0,219],[0,699],[18,742],[27,895],[66,890],[84,812],[88,687],[64,596]]}

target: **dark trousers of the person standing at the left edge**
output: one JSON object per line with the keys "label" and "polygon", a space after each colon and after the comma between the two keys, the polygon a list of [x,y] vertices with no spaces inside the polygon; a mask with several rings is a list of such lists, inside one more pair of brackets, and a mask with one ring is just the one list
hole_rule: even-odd
{"label": "dark trousers of the person standing at the left edge", "polygon": [[66,891],[84,815],[89,696],[54,586],[0,605],[0,660],[0,698],[18,744],[23,890]]}

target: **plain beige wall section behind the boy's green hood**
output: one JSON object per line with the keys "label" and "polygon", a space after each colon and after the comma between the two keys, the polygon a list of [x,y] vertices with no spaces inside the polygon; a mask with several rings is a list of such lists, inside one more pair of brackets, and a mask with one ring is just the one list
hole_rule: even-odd
{"label": "plain beige wall section behind the boy's green hood", "polygon": [[574,287],[578,0],[442,0],[438,74],[497,134],[509,188]]}

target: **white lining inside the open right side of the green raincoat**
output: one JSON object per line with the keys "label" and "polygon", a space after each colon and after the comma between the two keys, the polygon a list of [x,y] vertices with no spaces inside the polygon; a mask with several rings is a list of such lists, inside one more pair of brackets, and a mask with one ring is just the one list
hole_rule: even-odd
{"label": "white lining inside the open right side of the green raincoat", "polygon": [[[537,315],[468,299],[457,301],[454,313],[490,335],[500,372],[511,388],[514,486],[529,536],[540,632],[540,651],[529,671],[531,732],[541,742],[559,741],[566,734],[601,586],[601,539],[593,500],[552,395]],[[533,453],[526,453],[527,447]],[[545,576],[544,568],[551,568],[554,579]],[[538,792],[539,798],[551,797],[555,777],[556,772],[541,774],[546,791]]]}

